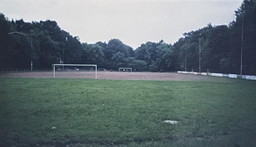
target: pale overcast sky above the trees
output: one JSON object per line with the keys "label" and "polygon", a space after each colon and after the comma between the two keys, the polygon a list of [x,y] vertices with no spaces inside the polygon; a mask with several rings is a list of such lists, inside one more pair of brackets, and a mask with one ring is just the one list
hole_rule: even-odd
{"label": "pale overcast sky above the trees", "polygon": [[118,38],[136,49],[147,41],[175,43],[207,24],[227,25],[242,0],[0,0],[0,12],[25,22],[55,20],[81,42]]}

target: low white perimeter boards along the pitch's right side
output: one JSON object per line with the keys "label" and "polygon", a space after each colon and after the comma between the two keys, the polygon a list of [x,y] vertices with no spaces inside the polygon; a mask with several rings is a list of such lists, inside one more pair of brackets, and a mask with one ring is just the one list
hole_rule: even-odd
{"label": "low white perimeter boards along the pitch's right side", "polygon": [[178,73],[184,73],[184,74],[194,74],[194,75],[209,75],[209,76],[215,76],[215,77],[229,77],[229,78],[242,78],[247,80],[256,80],[255,75],[235,75],[235,74],[222,74],[222,73],[213,73],[213,72],[184,72],[184,71],[178,71]]}

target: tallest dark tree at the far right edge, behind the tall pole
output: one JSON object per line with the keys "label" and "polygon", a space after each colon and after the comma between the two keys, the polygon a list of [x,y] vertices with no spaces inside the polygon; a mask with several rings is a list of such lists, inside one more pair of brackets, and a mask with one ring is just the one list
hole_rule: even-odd
{"label": "tallest dark tree at the far right edge, behind the tall pole", "polygon": [[230,23],[232,35],[229,41],[232,45],[230,54],[230,60],[233,62],[232,67],[238,71],[241,65],[241,35],[243,32],[243,73],[254,75],[256,75],[255,10],[255,0],[244,0],[240,8],[236,11],[236,21]]}

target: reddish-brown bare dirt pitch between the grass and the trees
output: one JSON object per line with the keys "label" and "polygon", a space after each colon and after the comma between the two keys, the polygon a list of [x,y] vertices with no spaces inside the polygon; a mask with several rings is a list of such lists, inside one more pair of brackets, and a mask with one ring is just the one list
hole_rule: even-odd
{"label": "reddish-brown bare dirt pitch between the grass and the trees", "polygon": [[[53,72],[0,72],[0,77],[53,78]],[[95,79],[95,72],[55,72],[55,78]],[[205,75],[178,74],[177,72],[97,72],[98,79],[157,80],[157,81],[230,81]]]}

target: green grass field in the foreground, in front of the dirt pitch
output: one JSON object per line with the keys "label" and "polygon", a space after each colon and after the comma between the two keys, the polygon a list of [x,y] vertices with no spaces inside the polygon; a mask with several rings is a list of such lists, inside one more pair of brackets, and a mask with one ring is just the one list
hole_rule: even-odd
{"label": "green grass field in the foreground, in front of the dirt pitch", "polygon": [[255,138],[255,81],[0,78],[3,147],[255,147]]}

